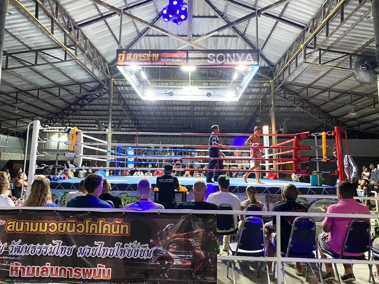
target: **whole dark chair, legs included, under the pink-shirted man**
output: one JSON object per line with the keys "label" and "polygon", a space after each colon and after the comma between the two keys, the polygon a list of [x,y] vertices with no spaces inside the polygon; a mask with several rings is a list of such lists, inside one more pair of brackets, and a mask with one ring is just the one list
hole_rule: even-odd
{"label": "whole dark chair, legs included, under the pink-shirted man", "polygon": [[[364,241],[366,239],[366,241]],[[345,241],[340,254],[332,253],[331,251],[323,250],[323,253],[327,258],[336,259],[355,259],[366,260],[364,253],[368,251],[368,259],[371,258],[371,235],[370,235],[370,223],[364,219],[354,219],[350,222],[349,229],[347,230]],[[362,253],[360,256],[345,256],[344,253]],[[368,264],[370,270],[370,278],[372,278],[375,284],[374,275],[372,273],[372,267]],[[341,284],[339,278],[337,264],[334,263],[334,270],[337,275],[338,283]]]}

